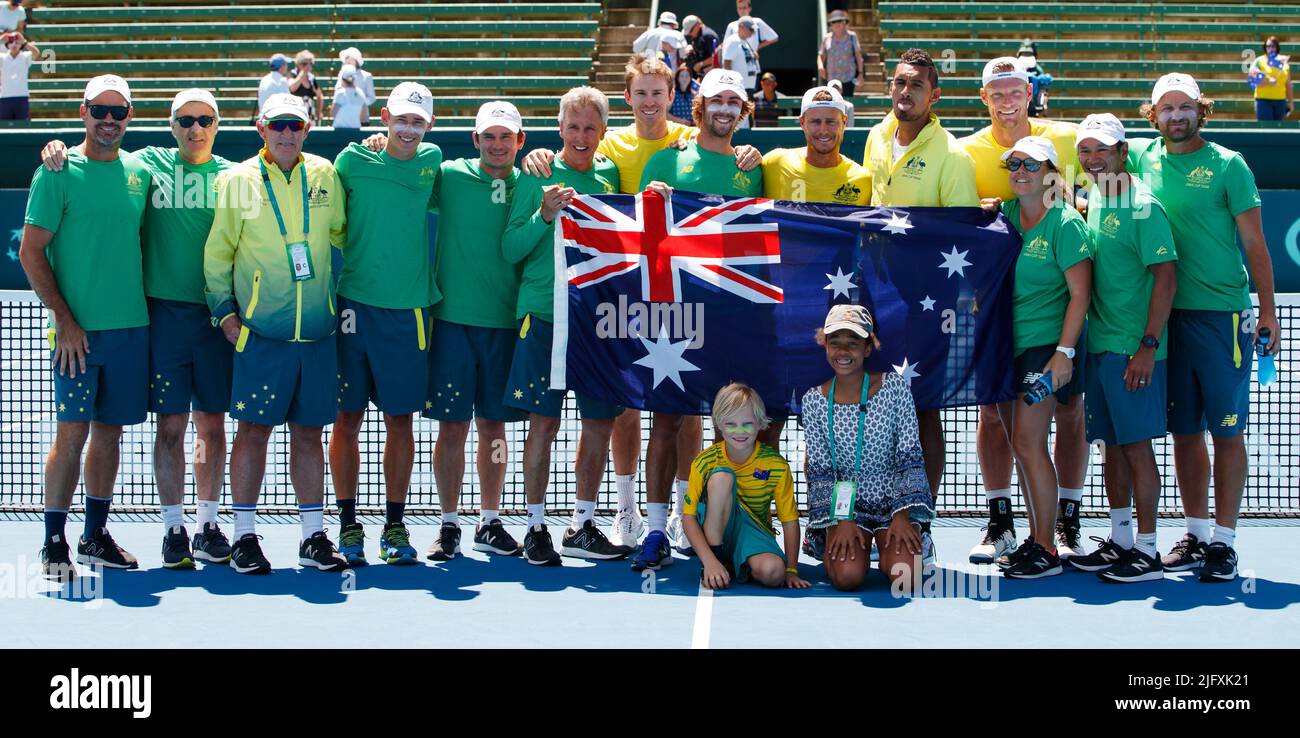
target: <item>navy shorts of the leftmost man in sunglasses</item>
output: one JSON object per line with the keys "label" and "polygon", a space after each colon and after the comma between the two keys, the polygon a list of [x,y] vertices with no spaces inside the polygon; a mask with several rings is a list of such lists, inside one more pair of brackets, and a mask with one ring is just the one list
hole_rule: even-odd
{"label": "navy shorts of the leftmost man in sunglasses", "polygon": [[[53,329],[49,330],[49,359],[55,357]],[[87,330],[86,373],[77,377],[55,374],[55,417],[60,422],[103,422],[135,425],[144,422],[150,401],[150,327]]]}

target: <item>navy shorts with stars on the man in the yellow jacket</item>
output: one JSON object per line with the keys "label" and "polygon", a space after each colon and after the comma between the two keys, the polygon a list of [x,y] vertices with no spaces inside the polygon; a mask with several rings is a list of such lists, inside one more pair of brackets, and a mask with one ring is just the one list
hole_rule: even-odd
{"label": "navy shorts with stars on the man in the yellow jacket", "polygon": [[235,343],[230,417],[260,425],[325,426],[338,413],[338,347],[333,335],[292,342],[243,326]]}

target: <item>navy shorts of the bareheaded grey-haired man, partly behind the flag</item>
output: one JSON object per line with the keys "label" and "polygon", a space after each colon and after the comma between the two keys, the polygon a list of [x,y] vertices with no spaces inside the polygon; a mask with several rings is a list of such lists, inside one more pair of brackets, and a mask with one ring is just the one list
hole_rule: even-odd
{"label": "navy shorts of the bareheaded grey-haired man, partly behind the flag", "polygon": [[[524,316],[515,342],[515,359],[510,364],[510,382],[503,403],[546,417],[560,417],[567,391],[551,390],[551,342],[555,325],[551,321]],[[582,418],[612,420],[623,414],[623,408],[580,392],[577,412]]]}

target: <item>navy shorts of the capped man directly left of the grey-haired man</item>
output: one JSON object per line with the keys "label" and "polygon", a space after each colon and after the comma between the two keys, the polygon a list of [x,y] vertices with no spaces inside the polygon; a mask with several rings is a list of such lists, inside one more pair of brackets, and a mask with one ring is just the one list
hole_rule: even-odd
{"label": "navy shorts of the capped man directly left of the grey-haired man", "polygon": [[433,321],[426,395],[430,407],[420,414],[450,422],[476,417],[516,422],[528,417],[502,403],[516,335],[512,329]]}

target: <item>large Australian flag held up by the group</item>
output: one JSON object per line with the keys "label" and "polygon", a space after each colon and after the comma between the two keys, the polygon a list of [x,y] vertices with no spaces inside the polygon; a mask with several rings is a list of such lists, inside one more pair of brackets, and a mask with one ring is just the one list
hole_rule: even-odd
{"label": "large Australian flag held up by the group", "polygon": [[555,229],[551,386],[707,414],[744,382],[768,412],[832,372],[814,340],[866,305],[919,408],[998,403],[1011,383],[1020,239],[978,208],[858,208],[675,191],[578,196]]}

